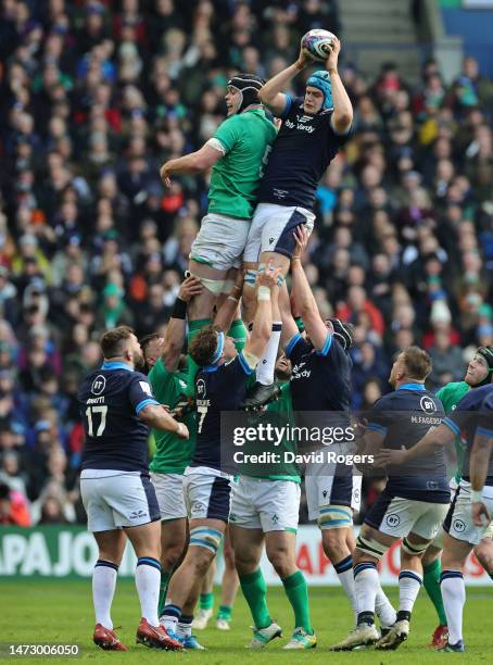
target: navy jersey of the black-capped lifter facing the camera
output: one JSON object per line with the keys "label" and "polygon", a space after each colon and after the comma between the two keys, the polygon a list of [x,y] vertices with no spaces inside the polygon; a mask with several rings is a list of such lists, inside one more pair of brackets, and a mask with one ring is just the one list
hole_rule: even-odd
{"label": "navy jersey of the black-capped lifter facing the camera", "polygon": [[286,347],[286,354],[293,366],[294,411],[349,411],[353,363],[330,332],[321,351],[298,332]]}

